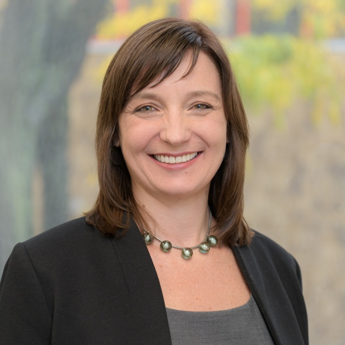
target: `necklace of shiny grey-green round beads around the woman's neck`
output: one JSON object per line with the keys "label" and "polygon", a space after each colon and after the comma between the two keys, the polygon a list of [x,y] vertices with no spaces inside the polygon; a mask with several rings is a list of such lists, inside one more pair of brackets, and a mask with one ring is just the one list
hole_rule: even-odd
{"label": "necklace of shiny grey-green round beads around the woman's neck", "polygon": [[199,248],[200,253],[206,254],[210,251],[211,247],[216,246],[218,243],[218,237],[217,236],[215,236],[215,235],[210,236],[211,220],[212,220],[212,213],[211,213],[210,209],[209,209],[209,212],[210,212],[210,218],[209,218],[208,230],[207,230],[205,239],[199,245],[196,245],[194,247],[189,247],[189,248],[174,246],[171,244],[170,241],[160,239],[159,237],[153,235],[152,233],[150,233],[146,229],[144,229],[145,231],[143,233],[144,241],[145,241],[146,245],[151,245],[151,243],[153,242],[153,239],[154,238],[157,239],[158,241],[160,241],[160,249],[164,253],[169,252],[171,248],[181,249],[181,256],[186,260],[188,260],[192,257],[193,249],[196,249],[196,248]]}

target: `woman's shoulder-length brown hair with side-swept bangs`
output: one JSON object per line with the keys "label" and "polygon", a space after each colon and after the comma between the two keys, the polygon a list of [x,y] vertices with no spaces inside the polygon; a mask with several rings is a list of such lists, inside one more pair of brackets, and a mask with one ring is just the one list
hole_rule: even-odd
{"label": "woman's shoulder-length brown hair with side-swept bangs", "polygon": [[146,225],[132,194],[121,148],[115,147],[119,116],[130,96],[158,76],[155,85],[174,73],[189,51],[192,63],[186,75],[202,51],[213,60],[221,78],[229,143],[209,193],[219,238],[229,245],[249,244],[252,233],[243,218],[247,118],[228,57],[215,34],[199,21],[164,18],[150,22],[137,29],[112,59],[103,81],[96,128],[99,194],[86,220],[108,234],[126,231],[130,214],[139,228]]}

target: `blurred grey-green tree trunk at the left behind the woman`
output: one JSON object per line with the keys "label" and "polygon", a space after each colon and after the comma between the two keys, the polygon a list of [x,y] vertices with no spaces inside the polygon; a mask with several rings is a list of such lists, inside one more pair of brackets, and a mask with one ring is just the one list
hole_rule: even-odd
{"label": "blurred grey-green tree trunk at the left behind the woman", "polygon": [[0,23],[0,270],[32,236],[32,174],[45,228],[67,220],[67,94],[108,0],[11,0]]}

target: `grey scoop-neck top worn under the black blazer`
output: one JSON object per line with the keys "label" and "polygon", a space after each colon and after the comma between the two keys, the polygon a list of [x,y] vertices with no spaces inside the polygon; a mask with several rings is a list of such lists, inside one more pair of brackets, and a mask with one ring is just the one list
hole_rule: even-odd
{"label": "grey scoop-neck top worn under the black blazer", "polygon": [[166,308],[172,345],[270,345],[267,326],[253,296],[237,308],[186,312]]}

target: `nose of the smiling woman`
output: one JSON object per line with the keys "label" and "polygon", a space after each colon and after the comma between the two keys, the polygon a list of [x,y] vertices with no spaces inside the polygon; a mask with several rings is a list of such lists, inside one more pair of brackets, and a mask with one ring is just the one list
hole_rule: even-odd
{"label": "nose of the smiling woman", "polygon": [[190,121],[183,112],[167,112],[160,132],[160,139],[172,146],[179,146],[190,139]]}

